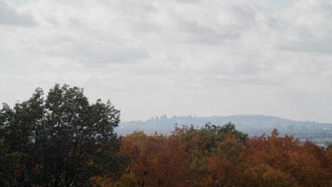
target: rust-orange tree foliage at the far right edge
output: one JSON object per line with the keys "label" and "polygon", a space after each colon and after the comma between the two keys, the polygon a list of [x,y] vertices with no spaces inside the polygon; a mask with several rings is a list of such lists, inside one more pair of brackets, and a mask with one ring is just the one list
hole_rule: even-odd
{"label": "rust-orange tree foliage at the far right edge", "polygon": [[[328,162],[323,149],[312,142],[301,145],[292,136],[278,137],[274,130],[270,136],[248,140],[248,148],[243,152],[245,167],[269,166],[278,172],[289,175],[300,186],[326,186]],[[326,164],[327,166],[323,166]]]}

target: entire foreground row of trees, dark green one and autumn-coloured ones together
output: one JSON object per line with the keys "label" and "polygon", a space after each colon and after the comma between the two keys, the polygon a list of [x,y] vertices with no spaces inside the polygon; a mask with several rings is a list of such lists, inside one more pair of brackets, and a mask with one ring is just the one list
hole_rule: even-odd
{"label": "entire foreground row of trees, dark green one and autumn-coloured ones together", "polygon": [[332,149],[235,125],[114,133],[120,111],[56,84],[0,110],[0,186],[332,186]]}

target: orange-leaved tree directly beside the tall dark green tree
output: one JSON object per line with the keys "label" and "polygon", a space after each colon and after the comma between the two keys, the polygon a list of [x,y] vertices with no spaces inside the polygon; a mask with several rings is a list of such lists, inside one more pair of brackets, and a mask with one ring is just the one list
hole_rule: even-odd
{"label": "orange-leaved tree directly beside the tall dark green tree", "polygon": [[122,181],[132,186],[187,186],[187,154],[176,135],[134,132],[123,139],[123,151],[131,156]]}

